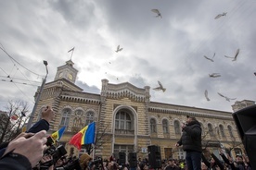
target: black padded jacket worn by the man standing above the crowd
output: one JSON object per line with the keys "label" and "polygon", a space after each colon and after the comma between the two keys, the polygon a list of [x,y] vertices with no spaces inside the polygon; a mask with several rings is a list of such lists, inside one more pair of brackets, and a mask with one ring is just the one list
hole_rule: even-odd
{"label": "black padded jacket worn by the man standing above the crowd", "polygon": [[186,152],[202,152],[201,132],[199,122],[192,121],[183,128],[182,137],[177,143],[183,145],[183,150]]}

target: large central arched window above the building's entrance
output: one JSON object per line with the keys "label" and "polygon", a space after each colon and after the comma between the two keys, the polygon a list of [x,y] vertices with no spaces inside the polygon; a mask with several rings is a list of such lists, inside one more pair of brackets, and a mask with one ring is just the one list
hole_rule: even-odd
{"label": "large central arched window above the building's entrance", "polygon": [[130,113],[126,110],[121,110],[116,115],[115,120],[116,129],[131,130],[132,129],[132,119]]}

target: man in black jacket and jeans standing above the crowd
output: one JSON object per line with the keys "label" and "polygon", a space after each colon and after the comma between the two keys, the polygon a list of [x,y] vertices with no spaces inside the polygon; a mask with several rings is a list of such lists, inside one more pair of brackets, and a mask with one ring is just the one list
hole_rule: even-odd
{"label": "man in black jacket and jeans standing above the crowd", "polygon": [[182,126],[182,137],[175,144],[176,147],[183,146],[186,151],[186,166],[188,170],[201,169],[201,127],[195,117],[187,116],[186,124]]}

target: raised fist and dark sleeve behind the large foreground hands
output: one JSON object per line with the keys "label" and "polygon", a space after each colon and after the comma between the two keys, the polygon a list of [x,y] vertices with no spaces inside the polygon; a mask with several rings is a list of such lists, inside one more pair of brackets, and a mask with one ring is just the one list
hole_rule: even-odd
{"label": "raised fist and dark sleeve behind the large foreground hands", "polygon": [[42,118],[38,122],[36,122],[32,128],[30,128],[28,133],[37,133],[41,130],[48,131],[50,128],[50,122],[53,120],[55,113],[51,106],[46,106],[42,109]]}

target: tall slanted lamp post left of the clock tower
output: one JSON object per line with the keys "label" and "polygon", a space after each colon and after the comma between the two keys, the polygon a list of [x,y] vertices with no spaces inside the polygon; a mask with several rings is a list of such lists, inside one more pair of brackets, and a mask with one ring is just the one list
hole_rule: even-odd
{"label": "tall slanted lamp post left of the clock tower", "polygon": [[37,104],[41,98],[41,94],[42,94],[42,91],[44,90],[44,87],[45,87],[45,82],[46,82],[46,78],[47,78],[47,75],[48,75],[48,68],[47,68],[47,65],[48,65],[48,62],[44,60],[44,65],[45,65],[45,68],[46,68],[46,75],[45,75],[45,79],[43,80],[42,82],[42,85],[40,87],[40,91],[37,95],[37,98],[35,100],[35,103],[33,105],[33,108],[32,108],[32,114],[30,115],[30,119],[29,119],[29,122],[27,124],[27,130],[29,130],[31,127],[32,127],[32,119],[34,117],[34,113],[35,113],[35,110],[36,110],[36,107],[37,107]]}

